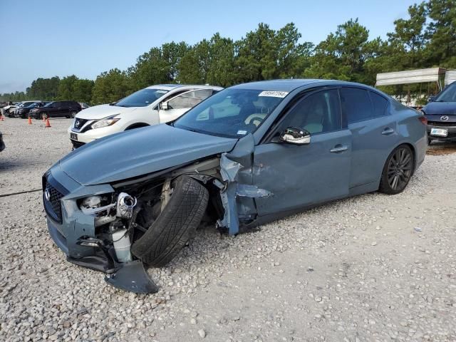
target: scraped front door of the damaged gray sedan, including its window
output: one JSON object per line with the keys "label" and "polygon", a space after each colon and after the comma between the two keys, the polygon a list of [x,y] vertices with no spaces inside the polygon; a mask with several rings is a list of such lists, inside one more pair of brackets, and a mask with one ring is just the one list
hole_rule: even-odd
{"label": "scraped front door of the damaged gray sedan, including its window", "polygon": [[[307,130],[311,142],[274,142],[289,127]],[[259,216],[348,195],[351,133],[342,128],[337,89],[305,95],[284,115],[271,137],[254,150],[253,184],[273,193],[256,199]]]}

